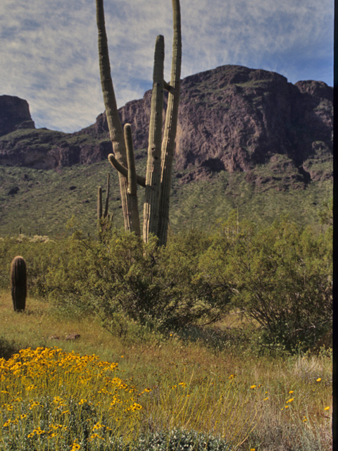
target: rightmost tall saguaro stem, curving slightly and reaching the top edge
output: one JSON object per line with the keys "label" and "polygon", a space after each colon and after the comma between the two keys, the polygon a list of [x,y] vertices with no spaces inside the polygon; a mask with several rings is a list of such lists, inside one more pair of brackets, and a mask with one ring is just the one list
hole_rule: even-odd
{"label": "rightmost tall saguaro stem, curving slightly and reaching the top edge", "polygon": [[168,107],[161,154],[161,196],[158,209],[158,242],[165,245],[168,236],[171,177],[177,130],[178,105],[180,103],[180,75],[182,61],[180,0],[173,0],[173,59],[171,64]]}

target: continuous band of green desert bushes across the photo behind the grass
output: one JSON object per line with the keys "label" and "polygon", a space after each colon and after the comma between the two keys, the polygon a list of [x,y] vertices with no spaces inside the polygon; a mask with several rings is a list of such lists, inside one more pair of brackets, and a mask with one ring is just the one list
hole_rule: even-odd
{"label": "continuous band of green desert bushes across the photo behind the grass", "polygon": [[[131,324],[160,332],[212,323],[240,309],[261,350],[305,351],[331,330],[332,227],[315,234],[284,218],[258,228],[233,213],[213,234],[171,235],[167,247],[107,228],[101,240],[0,240],[0,285],[15,255],[31,295],[68,313],[95,314],[123,336]],[[256,341],[255,341],[256,340]]]}

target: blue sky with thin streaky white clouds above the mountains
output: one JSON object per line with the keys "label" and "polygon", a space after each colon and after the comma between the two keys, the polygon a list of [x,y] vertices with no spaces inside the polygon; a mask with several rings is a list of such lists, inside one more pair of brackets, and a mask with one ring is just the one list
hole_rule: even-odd
{"label": "blue sky with thin streaky white clouds above the mountains", "polygon": [[[181,0],[181,78],[237,64],[289,82],[333,85],[332,0]],[[170,80],[170,0],[104,0],[118,107],[151,89],[154,44],[165,39]],[[0,95],[25,99],[37,128],[75,132],[104,111],[95,0],[1,0]]]}

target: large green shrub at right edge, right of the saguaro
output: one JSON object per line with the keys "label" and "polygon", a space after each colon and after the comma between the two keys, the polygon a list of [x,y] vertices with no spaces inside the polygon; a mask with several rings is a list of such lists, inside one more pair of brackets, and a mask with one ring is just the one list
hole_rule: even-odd
{"label": "large green shrub at right edge, right of the saguaro", "polygon": [[313,347],[331,328],[332,230],[315,235],[287,219],[268,228],[234,216],[215,236],[200,266],[232,291],[232,304],[261,326],[262,348]]}

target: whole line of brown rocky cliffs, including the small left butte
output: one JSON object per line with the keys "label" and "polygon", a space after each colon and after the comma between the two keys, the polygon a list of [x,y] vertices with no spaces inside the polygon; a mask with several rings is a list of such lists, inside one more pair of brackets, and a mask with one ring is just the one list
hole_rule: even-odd
{"label": "whole line of brown rocky cliffs, including the small left butte", "polygon": [[[277,73],[242,66],[184,78],[176,178],[186,184],[220,171],[244,172],[251,185],[278,190],[330,180],[332,97],[333,88],[324,82],[292,85]],[[123,124],[132,125],[136,150],[148,144],[150,106],[148,91],[119,110]],[[57,169],[101,161],[110,152],[104,113],[73,134],[35,129],[26,101],[0,96],[0,165]]]}

